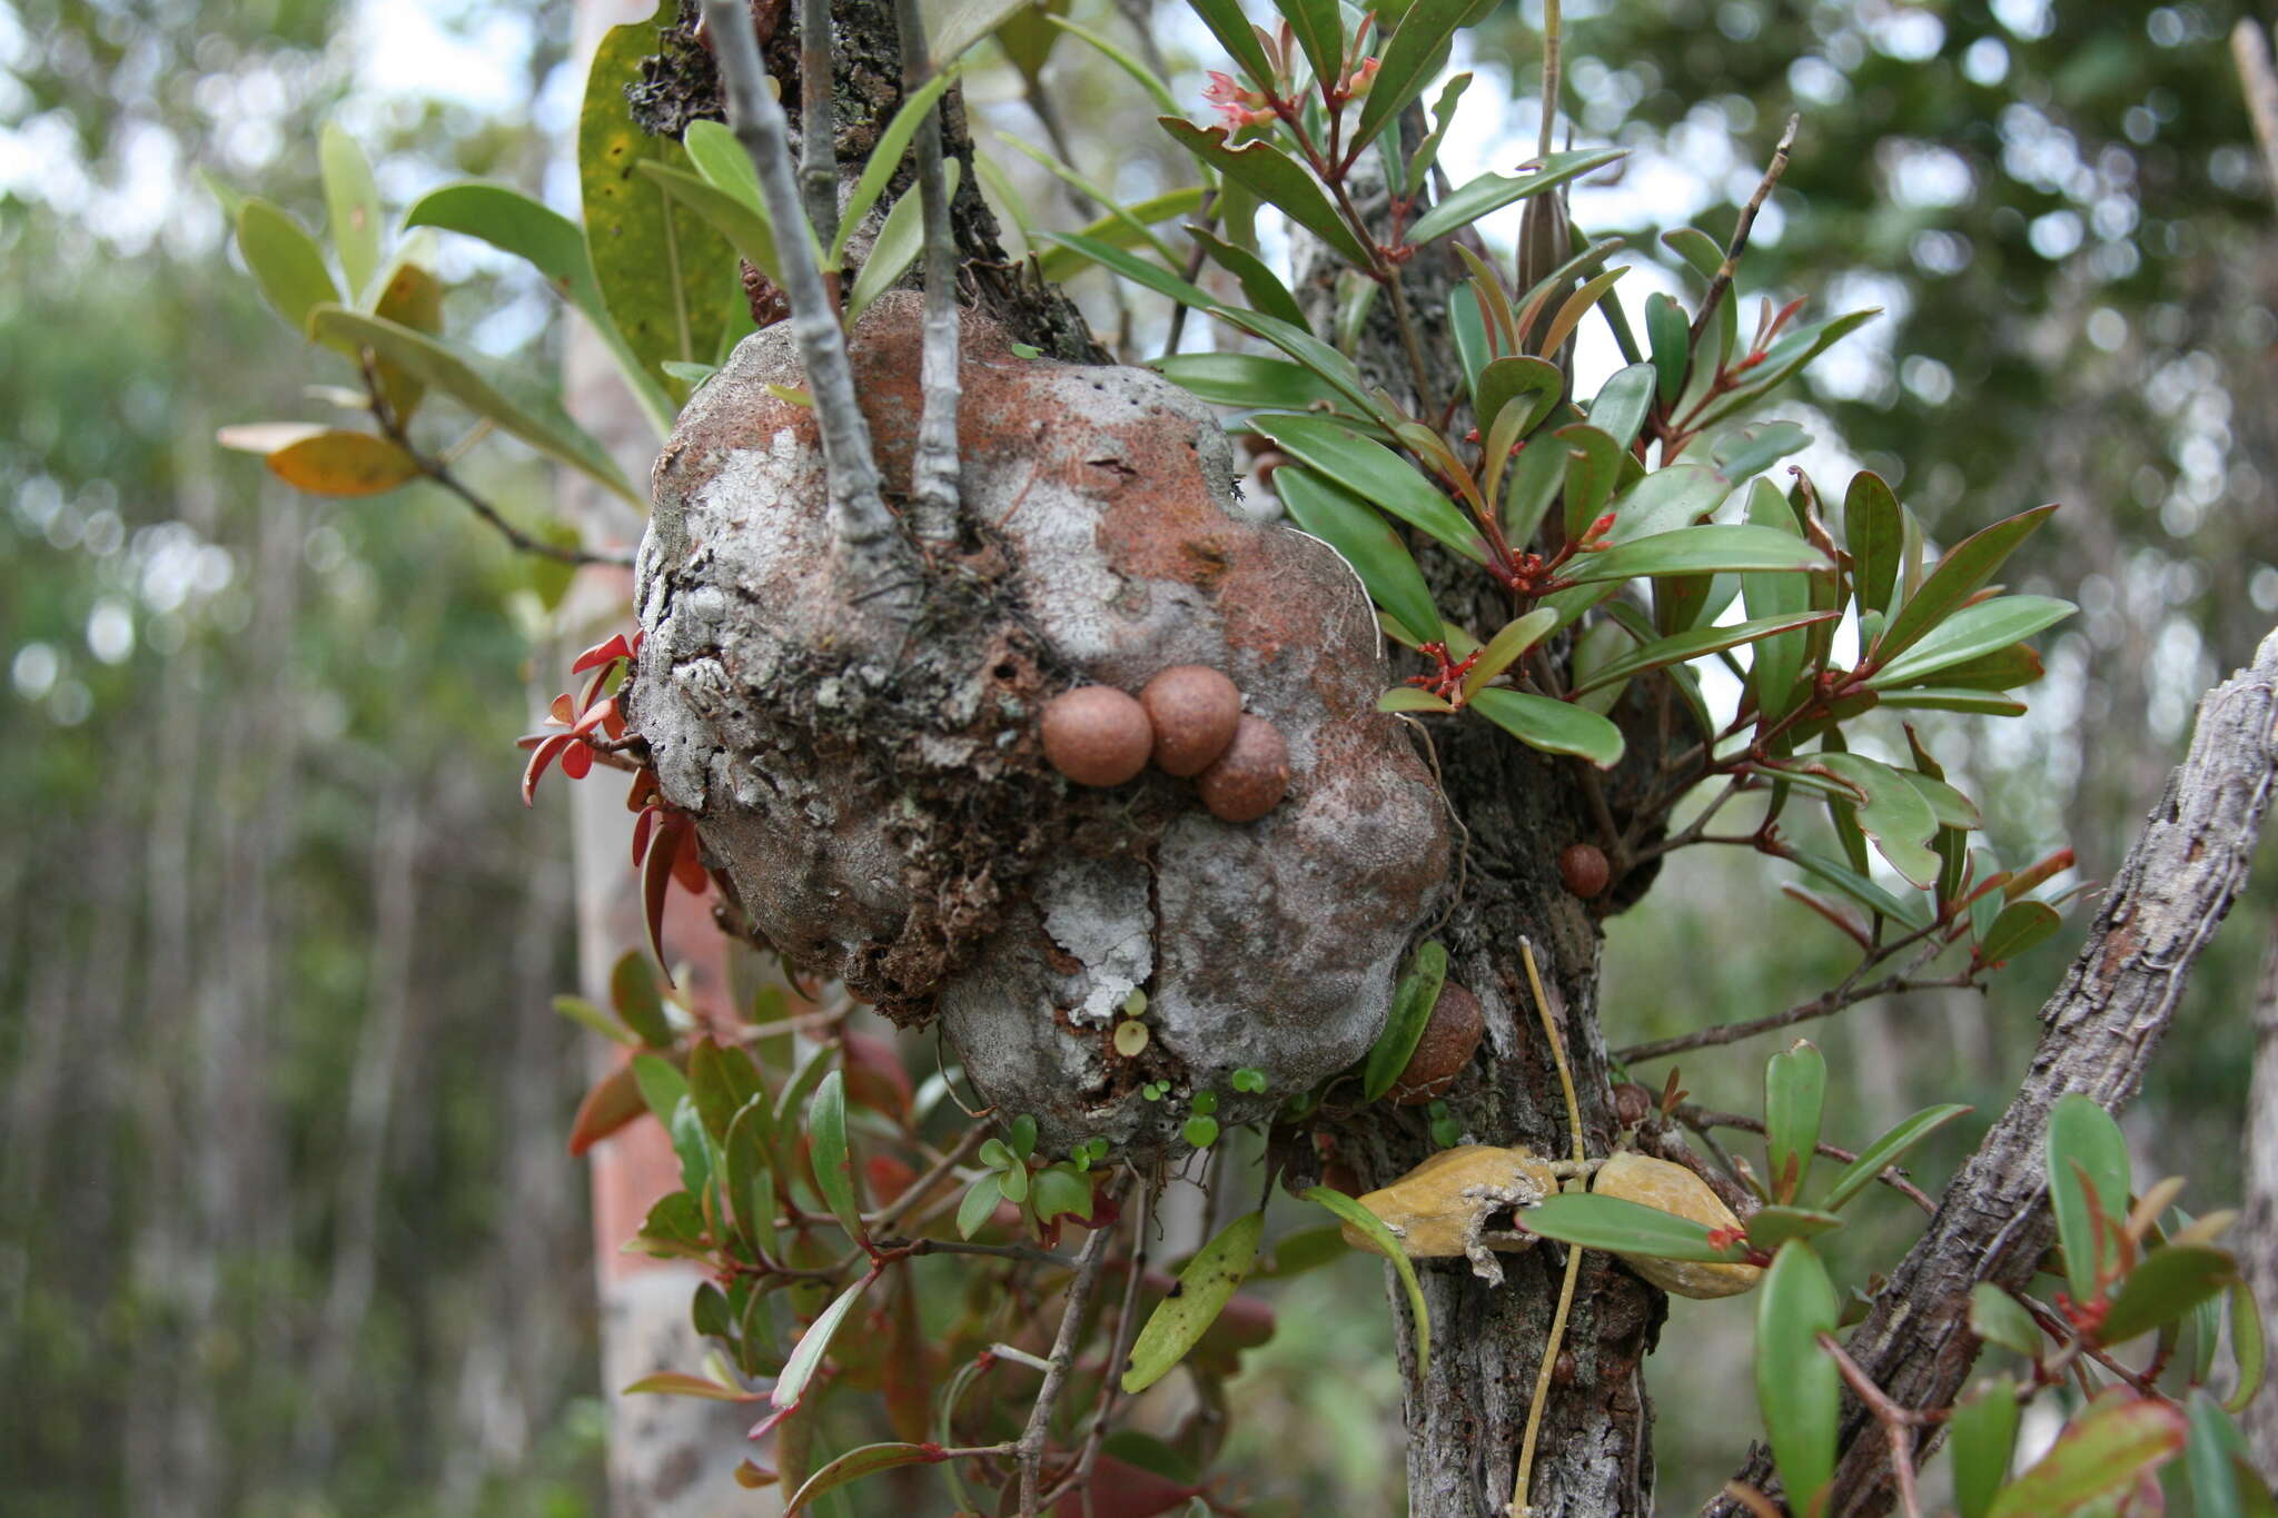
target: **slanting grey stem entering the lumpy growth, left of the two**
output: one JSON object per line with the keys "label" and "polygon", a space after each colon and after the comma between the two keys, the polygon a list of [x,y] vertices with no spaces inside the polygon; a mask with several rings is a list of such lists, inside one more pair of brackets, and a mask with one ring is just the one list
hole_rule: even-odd
{"label": "slanting grey stem entering the lumpy growth, left of the two", "polygon": [[[759,57],[759,39],[740,0],[704,0],[704,18],[715,39],[720,80],[727,86],[729,125],[752,155],[759,191],[768,216],[779,228],[795,228],[806,209],[790,166],[790,123],[768,91],[768,71]],[[813,246],[786,234],[777,248],[784,264],[784,296],[790,300],[790,335],[800,346],[806,385],[816,398],[816,426],[822,435],[822,471],[831,492],[831,517],[838,548],[850,576],[863,587],[888,587],[879,596],[907,610],[907,589],[916,587],[893,512],[879,494],[877,460],[870,455],[870,423],[854,403],[854,369],[847,362],[838,310],[822,287]]]}

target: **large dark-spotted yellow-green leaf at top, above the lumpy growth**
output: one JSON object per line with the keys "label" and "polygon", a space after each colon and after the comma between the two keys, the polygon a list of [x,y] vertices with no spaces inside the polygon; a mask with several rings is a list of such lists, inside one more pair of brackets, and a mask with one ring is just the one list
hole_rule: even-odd
{"label": "large dark-spotted yellow-green leaf at top, above the lumpy growth", "polygon": [[642,159],[688,164],[677,141],[649,137],[624,109],[642,59],[661,50],[658,18],[670,20],[672,9],[658,7],[649,20],[601,36],[585,75],[576,143],[585,257],[640,373],[663,373],[665,360],[711,362],[729,319],[747,312],[727,239],[636,173]]}

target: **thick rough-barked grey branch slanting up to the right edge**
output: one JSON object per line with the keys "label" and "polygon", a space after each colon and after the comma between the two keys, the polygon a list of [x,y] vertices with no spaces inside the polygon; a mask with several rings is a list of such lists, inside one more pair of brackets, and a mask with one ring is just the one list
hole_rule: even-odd
{"label": "thick rough-barked grey branch slanting up to the right edge", "polygon": [[[1939,1215],[1891,1274],[1847,1354],[1907,1406],[1950,1406],[1977,1359],[1968,1297],[1977,1281],[2023,1290],[2055,1238],[2041,1140],[2048,1108],[2087,1092],[2125,1106],[2175,1015],[2201,949],[2246,885],[2246,867],[2278,783],[2278,633],[2255,662],[2198,703],[2191,751],[2128,851],[2089,940],[2041,1008],[2041,1047],[2009,1111],[1961,1168]],[[1888,1511],[1893,1475],[1879,1429],[1845,1404],[1843,1463],[1829,1518]],[[1768,1488],[1756,1454],[1738,1477]],[[1731,1498],[1704,1513],[1740,1518]]]}

